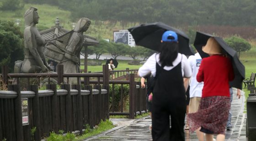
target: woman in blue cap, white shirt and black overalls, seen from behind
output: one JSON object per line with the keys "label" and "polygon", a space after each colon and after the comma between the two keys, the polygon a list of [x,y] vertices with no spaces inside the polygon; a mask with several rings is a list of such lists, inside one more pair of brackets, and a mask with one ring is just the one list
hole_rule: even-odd
{"label": "woman in blue cap, white shirt and black overalls, seen from behind", "polygon": [[160,51],[150,56],[139,68],[140,77],[149,73],[155,77],[152,137],[153,141],[185,141],[185,87],[192,72],[187,57],[178,53],[178,37],[174,31],[165,31],[161,42]]}

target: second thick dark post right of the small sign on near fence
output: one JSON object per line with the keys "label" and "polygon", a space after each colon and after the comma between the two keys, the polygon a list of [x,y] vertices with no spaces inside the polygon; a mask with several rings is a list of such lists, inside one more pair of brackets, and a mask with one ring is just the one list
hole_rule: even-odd
{"label": "second thick dark post right of the small sign on near fence", "polygon": [[46,89],[53,90],[53,96],[51,97],[51,104],[52,104],[52,124],[53,124],[53,131],[59,131],[59,109],[58,109],[58,96],[57,96],[57,85],[56,84],[46,84]]}

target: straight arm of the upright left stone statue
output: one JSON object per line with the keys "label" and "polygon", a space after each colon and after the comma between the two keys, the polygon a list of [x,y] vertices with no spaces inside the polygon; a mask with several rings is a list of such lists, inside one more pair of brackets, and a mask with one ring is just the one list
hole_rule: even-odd
{"label": "straight arm of the upright left stone statue", "polygon": [[36,60],[37,65],[41,67],[43,72],[49,71],[49,69],[44,65],[39,52],[37,51],[37,43],[35,35],[29,29],[25,29],[24,40],[27,42],[27,47],[32,54],[33,58]]}

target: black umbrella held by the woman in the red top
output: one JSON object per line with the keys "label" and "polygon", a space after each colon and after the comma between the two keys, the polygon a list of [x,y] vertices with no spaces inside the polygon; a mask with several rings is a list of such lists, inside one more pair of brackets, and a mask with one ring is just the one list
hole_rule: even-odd
{"label": "black umbrella held by the woman in the red top", "polygon": [[194,42],[194,46],[196,47],[197,52],[202,58],[209,57],[207,53],[203,52],[202,47],[206,45],[206,42],[210,37],[213,37],[223,48],[224,53],[227,53],[231,58],[235,79],[230,82],[230,85],[232,87],[242,89],[242,81],[245,79],[245,66],[240,62],[237,56],[237,52],[233,48],[229,47],[229,45],[227,45],[227,43],[222,38],[214,37],[210,34],[197,31],[196,39]]}

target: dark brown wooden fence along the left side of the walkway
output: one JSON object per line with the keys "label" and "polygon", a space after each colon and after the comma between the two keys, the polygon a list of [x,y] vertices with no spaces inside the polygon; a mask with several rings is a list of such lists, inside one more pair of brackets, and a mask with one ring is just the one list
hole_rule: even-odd
{"label": "dark brown wooden fence along the left side of the walkway", "polygon": [[[27,78],[28,85],[26,91],[21,91],[17,81],[18,84],[8,85],[8,91],[0,91],[0,140],[39,141],[49,136],[51,131],[58,133],[59,130],[81,134],[86,124],[92,128],[100,120],[108,119],[109,115],[129,115],[129,118],[134,118],[134,115],[146,111],[146,89],[140,89],[140,84],[134,82],[134,74],[129,74],[128,80],[109,80],[106,65],[103,65],[102,73],[63,73],[63,66],[58,67],[58,73],[47,74],[14,74],[7,70],[5,66],[2,67],[4,84],[8,84],[10,78]],[[83,89],[81,85],[70,88],[69,84],[63,84],[64,77],[67,80],[69,77],[84,78]],[[97,80],[90,80],[92,77]],[[37,85],[29,84],[29,78],[38,78],[39,81],[40,78],[57,78],[60,89],[56,84],[47,84],[46,90],[38,90]],[[109,84],[121,87],[123,84],[129,85],[129,112],[109,112]],[[27,100],[27,117],[21,104],[24,99]],[[33,134],[31,131],[34,127],[36,131]]]}

